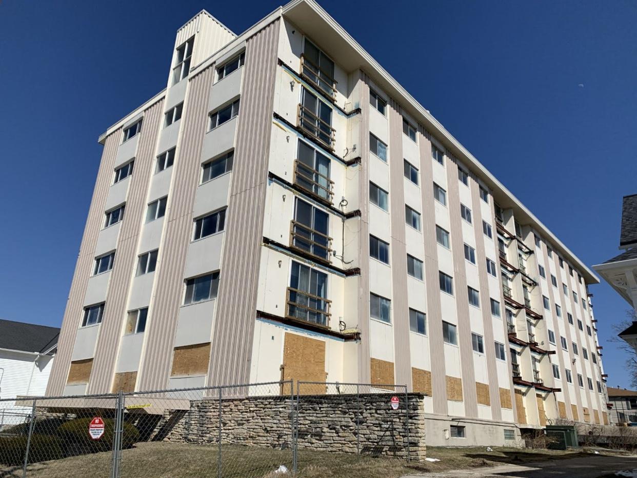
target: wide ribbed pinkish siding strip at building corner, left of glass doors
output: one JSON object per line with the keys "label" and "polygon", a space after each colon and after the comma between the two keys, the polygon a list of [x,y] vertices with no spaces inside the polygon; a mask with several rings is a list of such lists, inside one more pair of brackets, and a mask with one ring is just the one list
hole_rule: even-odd
{"label": "wide ribbed pinkish siding strip at building corner, left of glass doors", "polygon": [[246,383],[259,285],[279,22],[246,43],[245,71],[208,384]]}

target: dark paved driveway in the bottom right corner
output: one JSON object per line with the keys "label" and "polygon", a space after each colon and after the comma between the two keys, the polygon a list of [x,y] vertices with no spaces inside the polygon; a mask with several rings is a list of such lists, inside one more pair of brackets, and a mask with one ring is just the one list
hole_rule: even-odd
{"label": "dark paved driveway in the bottom right corner", "polygon": [[[477,477],[515,477],[515,478],[598,478],[612,475],[620,470],[637,470],[637,456],[590,455],[569,460],[540,461],[520,465],[501,465],[498,467],[473,468],[444,473],[419,475],[428,478],[477,478]],[[637,474],[636,474],[637,476]],[[408,475],[403,478],[417,478]]]}

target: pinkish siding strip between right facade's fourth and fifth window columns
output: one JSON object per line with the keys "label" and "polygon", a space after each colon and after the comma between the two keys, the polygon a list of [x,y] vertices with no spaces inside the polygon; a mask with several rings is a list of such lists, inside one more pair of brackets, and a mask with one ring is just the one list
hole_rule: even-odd
{"label": "pinkish siding strip between right facade's fourth and fifth window columns", "polygon": [[[489,376],[489,394],[491,396],[491,414],[494,420],[502,419],[502,408],[500,405],[500,391],[499,381],[497,378],[496,367],[496,351],[495,347],[489,347],[489,344],[495,344],[493,337],[493,323],[491,318],[491,304],[489,293],[489,277],[487,277],[487,254],[485,252],[484,241],[485,235],[482,231],[482,205],[480,202],[480,191],[478,182],[473,173],[471,173],[471,179],[469,181],[469,187],[471,188],[471,203],[473,204],[473,230],[476,237],[476,263],[478,264],[478,280],[480,281],[480,300],[482,304],[482,322],[484,324],[484,340],[485,340],[485,354],[487,356],[487,375]],[[493,198],[489,199],[489,202],[493,202]],[[497,233],[496,233],[497,236]],[[487,302],[489,301],[489,302]],[[505,304],[497,298],[500,303],[500,313],[504,314]],[[505,321],[505,316],[502,316]],[[505,337],[508,337],[505,331]],[[509,344],[505,339],[505,350],[508,352]],[[508,360],[507,362],[510,362]]]}

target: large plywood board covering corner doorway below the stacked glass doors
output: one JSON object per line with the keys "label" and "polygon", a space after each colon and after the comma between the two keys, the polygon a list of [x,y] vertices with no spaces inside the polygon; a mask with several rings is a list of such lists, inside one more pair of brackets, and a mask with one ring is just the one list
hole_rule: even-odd
{"label": "large plywood board covering corner doorway below the stacked glass doors", "polygon": [[[294,390],[297,380],[326,382],[325,341],[286,332],[283,342],[282,376],[283,380],[294,381]],[[326,393],[326,386],[301,385],[299,392],[303,395],[320,395]]]}

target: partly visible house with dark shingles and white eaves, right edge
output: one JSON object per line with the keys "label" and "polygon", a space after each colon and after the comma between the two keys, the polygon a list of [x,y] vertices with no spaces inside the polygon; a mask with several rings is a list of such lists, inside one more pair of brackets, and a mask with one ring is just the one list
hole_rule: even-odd
{"label": "partly visible house with dark shingles and white eaves, right edge", "polygon": [[[619,249],[624,252],[593,268],[637,310],[637,194],[624,196]],[[622,331],[619,337],[637,351],[637,322]]]}

